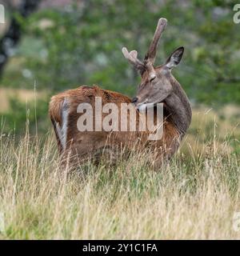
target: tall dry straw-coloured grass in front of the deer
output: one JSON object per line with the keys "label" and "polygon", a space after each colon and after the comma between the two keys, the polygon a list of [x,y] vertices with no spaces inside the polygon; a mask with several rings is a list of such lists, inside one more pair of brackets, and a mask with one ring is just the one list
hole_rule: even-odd
{"label": "tall dry straw-coloured grass in front of the deer", "polygon": [[68,174],[58,167],[53,134],[26,132],[20,141],[1,134],[0,238],[240,238],[233,228],[239,130],[214,115],[194,112],[182,148],[158,172],[134,154],[116,166],[89,162]]}

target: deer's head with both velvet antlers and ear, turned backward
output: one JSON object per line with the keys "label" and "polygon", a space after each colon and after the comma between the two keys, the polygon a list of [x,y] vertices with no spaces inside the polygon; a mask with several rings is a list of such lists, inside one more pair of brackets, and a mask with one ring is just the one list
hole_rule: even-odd
{"label": "deer's head with both velvet antlers and ear, turned backward", "polygon": [[179,47],[177,50],[174,50],[163,65],[154,66],[158,42],[166,24],[166,18],[158,20],[154,38],[143,62],[138,59],[138,52],[136,50],[129,52],[126,47],[122,48],[123,55],[139,71],[142,78],[138,86],[137,96],[132,100],[138,109],[145,108],[148,103],[163,102],[173,91],[172,79],[170,79],[172,76],[171,70],[181,61],[184,48]]}

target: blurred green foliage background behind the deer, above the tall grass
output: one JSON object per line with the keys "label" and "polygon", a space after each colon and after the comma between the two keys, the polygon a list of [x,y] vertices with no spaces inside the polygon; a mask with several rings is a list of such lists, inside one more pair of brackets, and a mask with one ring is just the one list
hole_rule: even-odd
{"label": "blurred green foliage background behind the deer, above the tall grass", "polygon": [[[226,104],[240,104],[240,24],[233,22],[235,1],[0,3],[6,14],[1,37],[13,20],[19,33],[18,43],[8,44],[7,62],[0,70],[0,113],[7,133],[21,134],[26,118],[31,131],[37,118],[38,131],[45,133],[50,127],[50,96],[62,90],[98,84],[134,96],[140,78],[121,49],[138,50],[143,58],[160,17],[168,19],[168,26],[156,63],[165,62],[178,46],[185,47],[173,73],[192,105],[219,110]],[[34,10],[25,15],[21,8],[27,4]]]}

